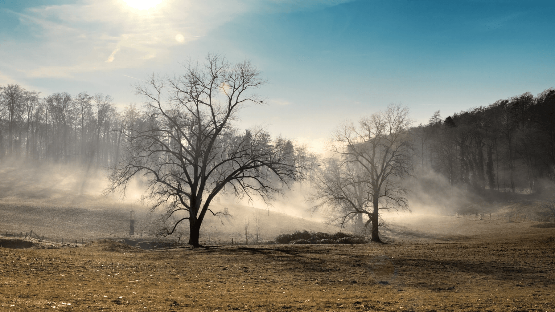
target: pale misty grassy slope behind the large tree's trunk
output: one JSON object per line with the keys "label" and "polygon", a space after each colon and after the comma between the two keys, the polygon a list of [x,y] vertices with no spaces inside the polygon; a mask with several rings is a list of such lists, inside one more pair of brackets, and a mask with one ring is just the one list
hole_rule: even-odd
{"label": "pale misty grassy slope behind the large tree's trunk", "polygon": [[[135,211],[135,237],[157,240],[158,214],[136,201],[122,202],[118,197],[99,196],[105,181],[102,175],[86,175],[79,168],[68,167],[0,167],[0,232],[33,231],[47,238],[64,241],[85,241],[97,238],[128,237],[129,211]],[[260,240],[268,241],[281,233],[297,229],[337,232],[322,222],[297,218],[285,213],[257,209],[241,204],[214,204],[213,210],[228,207],[230,217],[208,216],[201,228],[201,241],[226,243],[245,241],[244,224],[250,222],[255,234],[253,217],[260,216]],[[168,239],[188,236],[188,224]],[[251,238],[251,242],[254,237]]]}

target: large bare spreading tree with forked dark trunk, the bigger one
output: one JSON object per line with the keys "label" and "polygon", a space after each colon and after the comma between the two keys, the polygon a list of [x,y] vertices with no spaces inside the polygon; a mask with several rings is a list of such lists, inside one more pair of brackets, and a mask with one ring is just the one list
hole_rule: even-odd
{"label": "large bare spreading tree with forked dark trunk, the bigger one", "polygon": [[[271,140],[263,129],[239,132],[233,121],[249,103],[263,103],[255,91],[266,80],[249,61],[231,65],[220,55],[183,65],[184,74],[151,76],[137,93],[148,114],[134,129],[122,131],[127,153],[114,167],[107,191],[127,187],[135,176],[148,185],[152,209],[162,208],[162,234],[189,223],[189,244],[201,247],[199,230],[218,193],[271,200],[301,178],[297,151],[287,140]],[[164,98],[163,90],[168,92]]]}

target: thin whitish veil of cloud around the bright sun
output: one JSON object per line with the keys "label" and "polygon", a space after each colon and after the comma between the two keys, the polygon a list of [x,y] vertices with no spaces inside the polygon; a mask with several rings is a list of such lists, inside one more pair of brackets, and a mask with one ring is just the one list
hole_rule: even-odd
{"label": "thin whitish veil of cloud around the bright sun", "polygon": [[304,10],[342,2],[77,1],[13,12],[28,38],[0,40],[0,59],[17,64],[17,68],[8,65],[4,71],[23,80],[140,68],[145,62],[175,62],[172,47],[209,37],[211,30],[234,19],[256,12]]}

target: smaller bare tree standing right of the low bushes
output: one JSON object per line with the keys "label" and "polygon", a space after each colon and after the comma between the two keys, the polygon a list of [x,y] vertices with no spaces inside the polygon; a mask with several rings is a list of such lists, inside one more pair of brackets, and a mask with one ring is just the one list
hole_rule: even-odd
{"label": "smaller bare tree standing right of the low bushes", "polygon": [[412,176],[412,146],[408,108],[391,104],[385,111],[362,117],[332,132],[329,159],[314,183],[314,209],[339,216],[342,225],[356,214],[366,215],[371,239],[381,243],[380,210],[408,209],[401,178]]}

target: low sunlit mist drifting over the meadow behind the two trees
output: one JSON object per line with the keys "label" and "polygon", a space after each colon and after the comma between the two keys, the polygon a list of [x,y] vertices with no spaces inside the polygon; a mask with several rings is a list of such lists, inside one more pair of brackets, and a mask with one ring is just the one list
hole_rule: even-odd
{"label": "low sunlit mist drifting over the meadow behind the two trees", "polygon": [[[152,235],[167,226],[160,221],[159,211],[150,212],[149,203],[142,201],[146,190],[137,178],[129,183],[125,193],[115,192],[103,196],[103,191],[108,185],[108,171],[105,168],[12,160],[3,162],[0,166],[0,176],[0,198],[3,204],[52,207],[50,209],[67,207],[119,211],[122,216],[118,218],[122,218],[122,221],[115,227],[120,228],[115,228],[113,232],[122,235],[128,231],[126,222],[130,210],[137,213],[138,226],[144,226],[143,232],[138,234]],[[404,181],[405,187],[410,191],[408,200],[411,211],[381,212],[384,227],[380,231],[385,237],[395,239],[398,233],[415,231],[433,232],[433,237],[464,232],[457,224],[451,224],[450,227],[436,224],[433,231],[426,226],[430,222],[437,222],[435,216],[455,216],[455,213],[494,213],[498,218],[500,213],[502,217],[507,214],[528,213],[529,218],[532,218],[537,216],[534,209],[538,206],[538,198],[548,195],[548,192],[532,196],[525,192],[509,194],[487,189],[464,188],[451,185],[445,176],[430,168],[419,168],[415,176],[416,178],[407,178]],[[310,211],[314,203],[306,201],[309,192],[310,183],[294,183],[290,190],[285,190],[282,195],[276,196],[275,201],[269,203],[256,197],[249,200],[221,194],[215,198],[210,208],[214,212],[227,212],[228,215],[211,216],[209,213],[201,228],[201,236],[212,239],[213,242],[222,237],[243,242],[245,224],[250,225],[253,233],[257,218],[264,226],[264,231],[260,233],[260,241],[268,241],[277,234],[295,230],[340,231],[338,224],[331,222],[336,216],[321,211]],[[355,233],[357,230],[354,224],[345,224],[342,231]],[[75,233],[77,232],[78,229],[75,229]],[[172,237],[186,237],[188,232],[188,223],[182,222]]]}

